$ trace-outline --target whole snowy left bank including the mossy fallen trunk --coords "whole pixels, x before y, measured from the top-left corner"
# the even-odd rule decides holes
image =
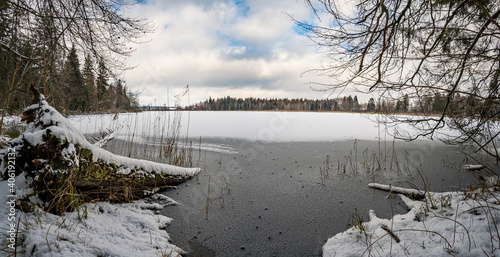
[[[175,201],[163,195],[152,196],[163,204],[129,201],[144,197],[144,190],[151,194],[162,183],[189,179],[199,168],[110,153],[88,142],[42,95],[24,110],[23,119],[28,123],[26,131],[0,150],[1,251],[9,256],[71,257],[178,256],[182,252],[169,243],[164,230],[171,219],[158,214]],[[88,178],[87,173],[102,178]],[[77,187],[82,181],[87,184]],[[84,191],[88,185],[99,193],[89,196]],[[139,191],[132,193],[134,187]],[[119,190],[125,198],[116,197]],[[126,203],[104,202],[107,198]]]

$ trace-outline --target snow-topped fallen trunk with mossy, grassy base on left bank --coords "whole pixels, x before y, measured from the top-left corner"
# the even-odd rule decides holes
[[[7,172],[8,152],[14,149],[15,175],[26,177],[34,190],[31,196],[45,202],[50,212],[69,211],[88,200],[129,201],[144,190],[179,184],[200,172],[118,156],[93,145],[32,90],[35,103],[23,112],[27,129],[0,150],[0,174],[7,179],[12,173]]]

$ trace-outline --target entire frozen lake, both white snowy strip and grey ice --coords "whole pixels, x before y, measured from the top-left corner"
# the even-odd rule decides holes
[[[378,115],[179,114],[71,120],[83,133],[115,130],[111,151],[161,161],[152,157],[155,146],[168,135],[168,124],[180,119],[179,136],[193,138],[193,162],[202,173],[165,192],[180,204],[162,213],[174,219],[167,228],[173,243],[192,250],[191,256],[319,256],[355,212],[368,220],[370,209],[382,218],[407,211],[399,197],[369,189],[370,182],[442,191],[474,180],[460,168],[466,162],[460,149],[430,140],[393,141],[395,127],[375,123]]]

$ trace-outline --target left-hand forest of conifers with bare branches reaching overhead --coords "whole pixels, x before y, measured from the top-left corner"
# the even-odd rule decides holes
[[[66,115],[139,105],[119,56],[131,51],[125,43],[133,33],[145,31],[140,22],[81,1],[1,1],[0,17],[2,117],[30,105],[31,86]]]

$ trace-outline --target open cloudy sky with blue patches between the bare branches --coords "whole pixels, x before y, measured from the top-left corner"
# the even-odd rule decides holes
[[[309,82],[327,78],[305,71],[325,61],[295,26],[314,15],[302,0],[145,0],[127,10],[156,27],[137,45],[125,73],[141,91],[140,104],[172,104],[189,84],[182,104],[212,98],[313,98]]]

